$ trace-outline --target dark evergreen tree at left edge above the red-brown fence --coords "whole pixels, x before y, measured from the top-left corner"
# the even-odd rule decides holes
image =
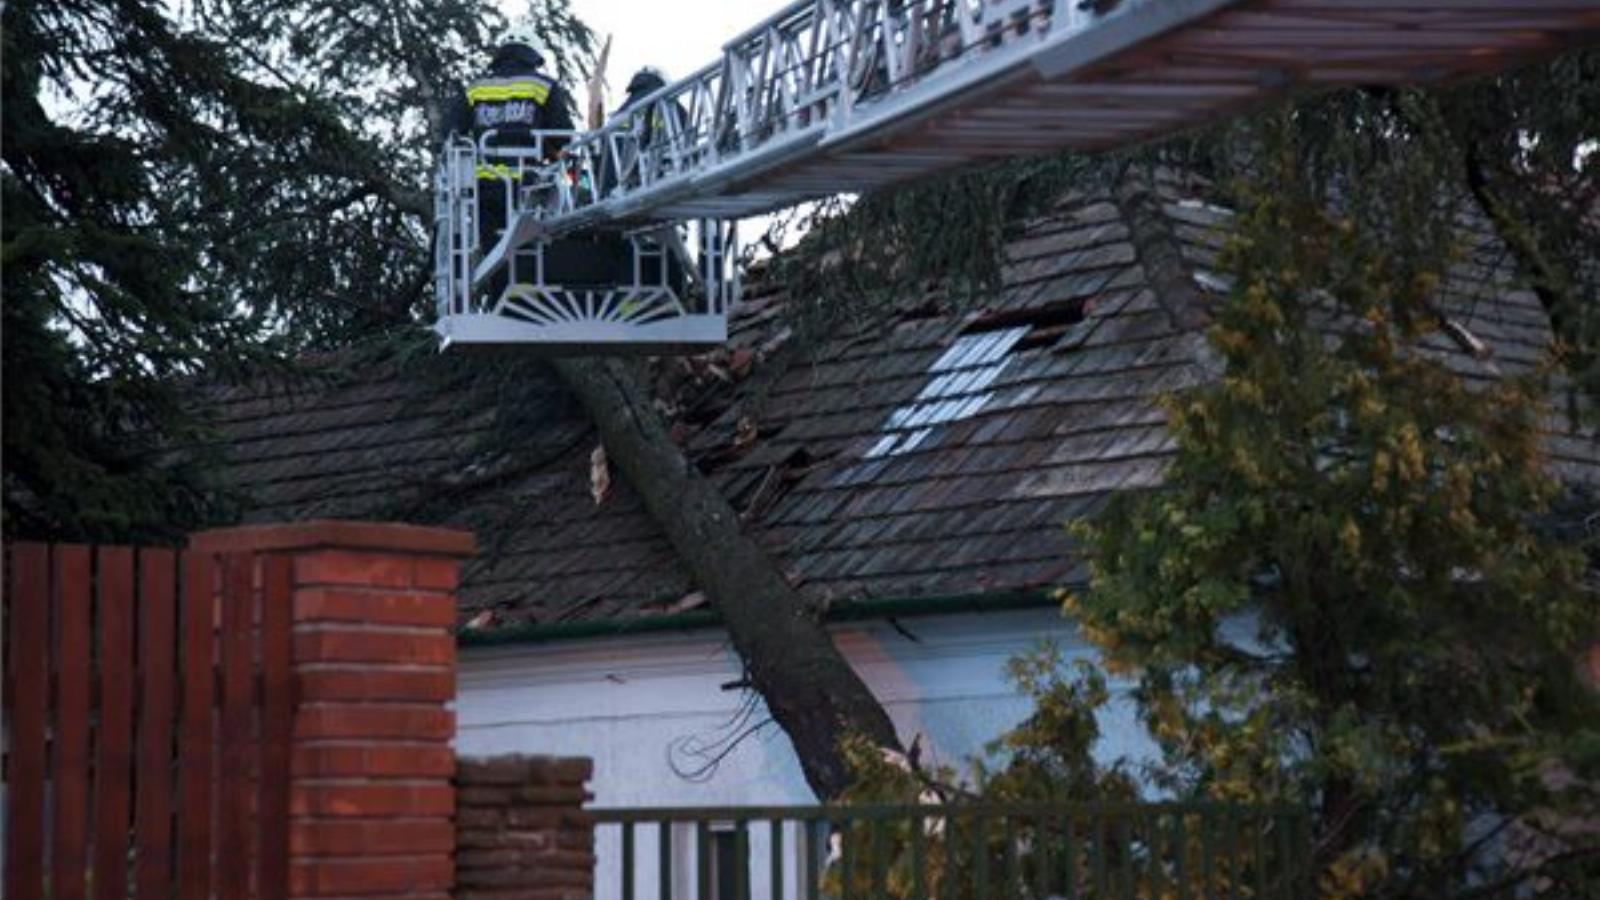
[[[158,163],[210,159],[226,139],[206,110],[248,85],[154,5],[22,2],[3,21],[6,532],[195,525],[211,492],[158,455],[192,436],[174,383],[242,352],[256,325],[197,288],[200,248],[162,215],[176,167]],[[234,125],[248,141],[262,122]]]

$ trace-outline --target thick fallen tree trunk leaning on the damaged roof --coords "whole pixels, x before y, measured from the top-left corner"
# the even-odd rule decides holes
[[[667,436],[638,364],[560,359],[554,367],[600,431],[610,461],[717,605],[752,687],[789,735],[806,783],[819,798],[837,798],[850,785],[842,738],[859,733],[899,746],[883,705],[776,560],[744,533],[722,492]]]

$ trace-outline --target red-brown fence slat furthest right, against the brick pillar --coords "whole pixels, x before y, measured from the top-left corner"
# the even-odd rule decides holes
[[[262,560],[261,599],[261,897],[288,897],[293,562]]]

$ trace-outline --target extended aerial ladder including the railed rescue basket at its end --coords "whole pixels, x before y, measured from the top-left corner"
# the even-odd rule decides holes
[[[741,218],[1597,37],[1600,0],[795,0],[603,127],[536,136],[563,141],[554,160],[488,136],[446,146],[435,330],[446,346],[706,349],[739,298]],[[514,175],[480,181],[482,165]],[[488,189],[507,219],[478,247]]]

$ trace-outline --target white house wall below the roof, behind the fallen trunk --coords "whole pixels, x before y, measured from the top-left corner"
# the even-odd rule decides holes
[[[1005,677],[1010,658],[1046,639],[1069,660],[1090,652],[1053,609],[917,617],[899,626],[845,625],[835,641],[901,738],[922,733],[936,761],[958,767],[1030,708]],[[595,807],[814,802],[776,725],[734,748],[702,781],[674,772],[675,743],[726,733],[744,697],[722,685],[738,677],[738,657],[712,631],[469,649],[461,655],[456,749],[589,756]],[[1146,753],[1130,705],[1114,706],[1101,722],[1102,756]],[[757,709],[755,721],[763,717]],[[763,831],[752,830],[750,842],[760,865]],[[597,895],[613,897],[616,836],[602,833],[597,850]],[[654,858],[653,839],[642,838],[638,852]]]

